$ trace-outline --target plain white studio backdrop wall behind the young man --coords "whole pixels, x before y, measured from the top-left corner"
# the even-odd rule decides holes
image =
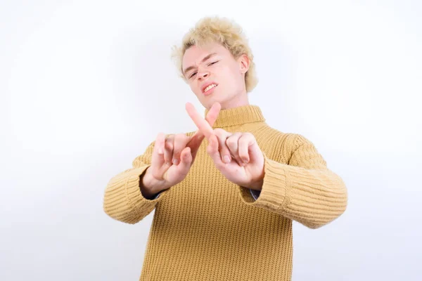
[[[294,223],[293,280],[421,280],[416,0],[1,1],[0,280],[138,280],[153,212],[114,221],[103,191],[158,132],[195,130],[170,50],[206,15],[250,38],[250,103],[347,183],[338,220]]]

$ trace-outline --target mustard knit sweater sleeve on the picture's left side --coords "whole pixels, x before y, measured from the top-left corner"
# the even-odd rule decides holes
[[[142,195],[139,186],[141,176],[151,166],[154,143],[148,145],[143,155],[132,162],[132,169],[113,176],[106,186],[103,209],[111,218],[124,223],[138,223],[153,211],[155,205],[169,192],[162,190],[152,200]]]

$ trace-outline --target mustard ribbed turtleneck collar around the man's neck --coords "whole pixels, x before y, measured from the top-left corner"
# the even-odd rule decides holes
[[[208,111],[208,109],[205,109],[204,116],[207,116]],[[228,126],[264,121],[264,115],[262,115],[260,107],[257,105],[242,105],[226,110],[220,110],[217,120],[212,127],[224,128]]]

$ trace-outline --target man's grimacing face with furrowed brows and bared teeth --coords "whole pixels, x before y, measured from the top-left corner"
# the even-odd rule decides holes
[[[248,104],[245,73],[249,60],[246,55],[235,59],[221,44],[191,46],[182,60],[184,77],[205,108],[219,102],[222,109]]]

